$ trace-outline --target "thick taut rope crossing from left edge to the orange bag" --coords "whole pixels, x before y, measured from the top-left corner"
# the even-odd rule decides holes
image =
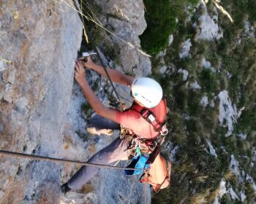
[[[26,159],[34,159],[34,160],[41,160],[45,162],[59,162],[59,163],[72,163],[76,165],[87,165],[97,168],[113,168],[113,169],[119,169],[119,170],[143,170],[146,172],[146,169],[140,169],[140,168],[124,168],[124,167],[118,167],[113,165],[100,165],[100,164],[94,164],[94,163],[88,163],[88,162],[80,162],[75,160],[65,160],[65,159],[58,159],[53,157],[43,157],[38,155],[31,155],[31,154],[24,154],[20,152],[10,152],[5,150],[0,150],[0,155],[10,156],[10,157],[22,157]]]

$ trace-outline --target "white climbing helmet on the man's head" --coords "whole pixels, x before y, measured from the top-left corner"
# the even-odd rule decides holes
[[[154,79],[140,77],[132,82],[132,95],[146,108],[154,108],[162,99],[162,87]]]

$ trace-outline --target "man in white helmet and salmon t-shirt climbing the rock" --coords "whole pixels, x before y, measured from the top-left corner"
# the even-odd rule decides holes
[[[159,83],[154,79],[135,78],[107,68],[113,82],[131,87],[134,103],[130,109],[121,112],[108,108],[99,101],[89,83],[86,82],[84,67],[97,71],[105,77],[107,74],[102,66],[94,63],[90,57],[86,60],[79,59],[75,63],[75,79],[86,100],[97,113],[91,118],[89,132],[110,135],[111,130],[120,130],[121,128],[122,133],[121,137],[116,138],[110,145],[94,154],[88,162],[107,165],[118,160],[129,160],[138,146],[142,152],[148,154],[154,151],[153,141],[166,131],[165,125],[162,124],[167,115],[167,106],[165,100],[162,99],[162,87]],[[142,112],[147,117],[143,117]],[[61,192],[66,193],[70,189],[80,189],[98,170],[99,168],[83,166],[66,184],[61,186]]]

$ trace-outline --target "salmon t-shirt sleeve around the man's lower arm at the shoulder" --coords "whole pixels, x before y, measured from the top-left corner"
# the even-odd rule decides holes
[[[140,113],[132,110],[118,112],[116,115],[116,119],[117,122],[124,127],[133,129],[133,127],[136,127],[140,121]]]

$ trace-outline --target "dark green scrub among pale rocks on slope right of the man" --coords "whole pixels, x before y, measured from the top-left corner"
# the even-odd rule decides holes
[[[183,7],[186,3],[182,1]],[[251,5],[254,9],[249,8]],[[211,12],[211,1],[206,5]],[[238,169],[248,173],[256,180],[255,166],[252,167],[252,149],[256,146],[256,43],[255,38],[249,37],[245,31],[245,20],[255,25],[256,10],[254,1],[223,0],[222,6],[230,12],[235,20],[230,23],[224,15],[219,13],[218,24],[223,29],[223,38],[216,41],[195,40],[195,28],[192,23],[197,22],[197,15],[192,15],[192,22],[187,22],[184,12],[176,15],[178,23],[173,30],[173,43],[165,47],[165,56],[153,55],[152,73],[159,79],[166,95],[172,96],[167,100],[170,109],[168,122],[172,124],[170,140],[174,146],[178,145],[176,162],[173,163],[171,187],[163,189],[152,197],[152,203],[213,203],[219,193],[219,182],[225,178],[226,187],[232,187],[240,196],[244,192],[244,203],[253,203],[255,191],[252,183],[239,181],[239,176],[230,169],[231,154],[238,161]],[[179,58],[181,44],[191,39],[190,58]],[[202,58],[211,62],[216,72],[202,68]],[[165,75],[159,74],[162,61],[167,66]],[[186,81],[178,69],[189,72]],[[171,70],[171,71],[170,71]],[[197,81],[200,89],[192,90],[189,85]],[[241,117],[234,119],[233,134],[225,137],[227,122],[219,125],[219,101],[217,95],[227,90],[230,102],[236,104]],[[203,96],[214,104],[200,105]],[[245,134],[241,138],[239,134]],[[211,155],[206,139],[217,153]],[[223,195],[221,203],[241,203],[233,200],[228,194]]]

